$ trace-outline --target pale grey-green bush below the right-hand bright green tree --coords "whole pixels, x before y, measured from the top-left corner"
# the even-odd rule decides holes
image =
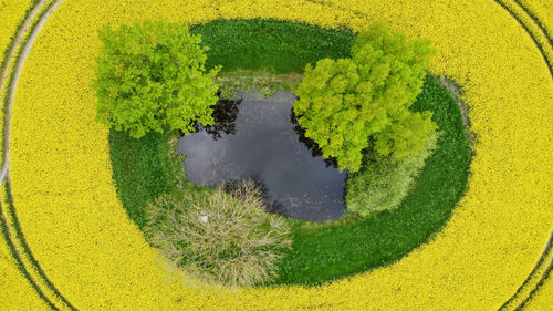
[[[415,156],[396,159],[377,153],[367,154],[359,172],[351,174],[346,185],[346,206],[362,216],[399,206],[436,148],[438,134],[432,132],[426,146]]]

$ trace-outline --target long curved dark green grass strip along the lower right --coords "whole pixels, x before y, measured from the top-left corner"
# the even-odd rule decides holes
[[[315,284],[394,262],[446,224],[469,175],[462,116],[447,90],[430,76],[413,110],[431,111],[440,137],[411,191],[397,209],[373,217],[319,230],[296,224],[293,250],[282,261],[278,283]]]

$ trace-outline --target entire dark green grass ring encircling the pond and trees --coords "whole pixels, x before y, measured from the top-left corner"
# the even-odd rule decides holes
[[[344,32],[275,21],[215,21],[192,31],[211,46],[208,63],[222,64],[223,75],[239,69],[298,73],[320,58],[348,56],[354,42]],[[431,76],[426,77],[411,108],[431,111],[440,131],[438,148],[426,160],[413,190],[397,209],[368,218],[348,215],[324,224],[286,219],[293,226],[293,246],[279,266],[275,283],[316,284],[390,263],[428,241],[446,224],[469,174],[462,116],[448,91]],[[175,136],[152,134],[135,141],[124,133],[109,135],[117,191],[140,228],[147,203],[170,190],[171,174],[182,174],[168,156],[171,138]],[[184,178],[181,188],[201,189]]]

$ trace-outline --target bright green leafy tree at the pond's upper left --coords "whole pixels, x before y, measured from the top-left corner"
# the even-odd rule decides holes
[[[148,132],[192,132],[197,121],[212,124],[217,103],[213,79],[206,72],[207,48],[188,28],[166,21],[144,21],[100,31],[96,59],[97,120],[135,138]]]

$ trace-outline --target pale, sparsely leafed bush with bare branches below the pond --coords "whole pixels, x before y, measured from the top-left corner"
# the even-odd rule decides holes
[[[148,207],[146,234],[178,267],[206,281],[253,286],[272,280],[291,247],[290,228],[265,212],[253,182],[192,198],[163,195]]]

